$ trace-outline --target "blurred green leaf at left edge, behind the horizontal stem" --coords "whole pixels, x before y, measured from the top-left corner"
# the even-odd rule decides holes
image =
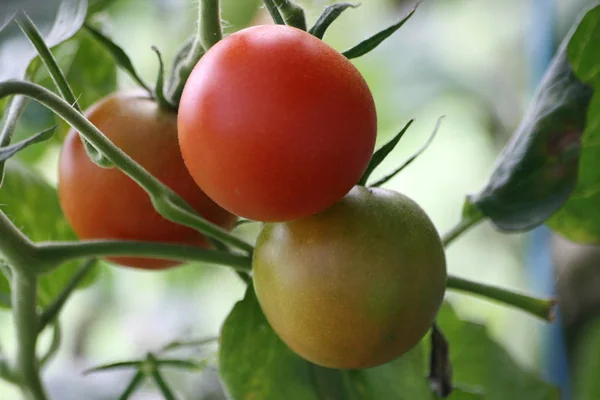
[[[73,240],[75,235],[62,216],[56,189],[23,165],[9,160],[0,208],[33,241]],[[38,300],[45,306],[63,290],[77,273],[79,262],[71,262],[40,278]],[[95,278],[90,274],[84,281]],[[0,276],[0,294],[9,293],[8,282]]]

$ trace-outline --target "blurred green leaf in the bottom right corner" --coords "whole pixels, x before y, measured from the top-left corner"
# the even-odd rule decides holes
[[[578,336],[573,358],[577,400],[600,399],[600,318],[588,322]]]

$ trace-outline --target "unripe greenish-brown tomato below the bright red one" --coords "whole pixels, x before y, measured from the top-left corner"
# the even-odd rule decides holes
[[[364,187],[323,213],[266,224],[253,274],[283,342],[341,369],[381,365],[416,345],[446,287],[443,246],[425,212],[399,193]]]

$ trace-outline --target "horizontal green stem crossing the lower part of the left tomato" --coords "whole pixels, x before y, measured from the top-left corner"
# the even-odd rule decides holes
[[[116,240],[39,243],[38,254],[42,259],[48,260],[50,265],[89,257],[146,257],[221,264],[248,272],[251,262],[248,256],[197,246]]]

